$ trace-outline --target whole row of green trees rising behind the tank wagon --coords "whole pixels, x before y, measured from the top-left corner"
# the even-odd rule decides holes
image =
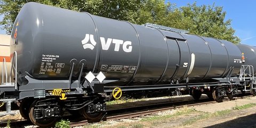
[[[0,0],[0,25],[11,33],[15,17],[27,2],[38,2],[64,9],[89,12],[101,17],[126,20],[136,24],[147,22],[158,25],[185,29],[190,34],[225,39],[239,43],[231,20],[225,21],[226,12],[222,7],[213,5],[197,6],[196,3],[177,7],[164,0]]]

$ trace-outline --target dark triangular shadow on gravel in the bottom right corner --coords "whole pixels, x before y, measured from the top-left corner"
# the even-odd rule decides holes
[[[220,124],[215,124],[212,126],[207,126],[207,128],[213,128],[213,127],[256,127],[256,114],[244,116],[244,117],[239,117],[237,119],[233,119],[231,121],[225,122],[225,123],[220,123]]]

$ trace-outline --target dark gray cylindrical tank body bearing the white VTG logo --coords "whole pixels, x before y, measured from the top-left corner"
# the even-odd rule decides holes
[[[22,7],[12,31],[20,85],[27,73],[40,80],[68,79],[73,63],[74,80],[84,63],[83,76],[102,71],[120,85],[202,81],[226,77],[230,67],[235,76],[242,65],[234,61],[241,59],[240,50],[227,41],[37,3]]]

